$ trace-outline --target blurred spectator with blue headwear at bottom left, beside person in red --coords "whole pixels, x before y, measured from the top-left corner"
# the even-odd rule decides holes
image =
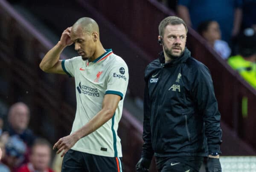
[[[6,156],[3,159],[3,163],[6,164],[12,172],[16,172],[25,158],[26,145],[17,136],[11,136],[6,143]]]

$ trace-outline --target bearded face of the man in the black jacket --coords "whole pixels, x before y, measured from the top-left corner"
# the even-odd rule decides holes
[[[183,24],[167,25],[163,32],[162,45],[168,57],[180,57],[185,51],[186,28]],[[160,38],[160,36],[159,36]]]

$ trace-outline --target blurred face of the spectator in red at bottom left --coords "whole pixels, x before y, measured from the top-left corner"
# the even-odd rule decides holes
[[[51,149],[47,145],[36,145],[32,149],[30,162],[35,170],[43,171],[48,168],[51,159]]]

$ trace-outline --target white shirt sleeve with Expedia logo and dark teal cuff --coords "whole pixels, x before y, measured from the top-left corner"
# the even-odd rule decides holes
[[[129,80],[128,67],[125,62],[114,64],[108,72],[105,94],[119,95],[121,100],[126,93]]]

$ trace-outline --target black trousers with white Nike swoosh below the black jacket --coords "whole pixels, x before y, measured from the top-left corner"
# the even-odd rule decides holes
[[[155,157],[158,172],[199,172],[204,157]]]

